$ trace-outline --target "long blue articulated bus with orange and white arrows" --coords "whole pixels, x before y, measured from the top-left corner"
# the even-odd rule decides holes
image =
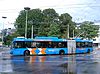
[[[92,41],[82,39],[59,39],[58,37],[14,38],[12,55],[76,54],[93,51]]]

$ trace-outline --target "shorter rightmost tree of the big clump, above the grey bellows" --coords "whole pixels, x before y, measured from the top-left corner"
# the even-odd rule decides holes
[[[59,16],[61,33],[63,33],[63,37],[67,38],[68,35],[68,26],[69,26],[69,36],[73,36],[73,30],[75,29],[76,23],[72,21],[72,17],[68,13],[61,14]]]

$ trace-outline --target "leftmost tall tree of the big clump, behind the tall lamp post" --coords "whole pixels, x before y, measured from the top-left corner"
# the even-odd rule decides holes
[[[32,21],[32,23],[30,23]],[[35,29],[40,27],[40,22],[43,21],[43,14],[40,9],[32,9],[28,11],[28,37],[31,37],[31,27],[34,25],[34,32],[35,34],[38,34]],[[17,29],[17,32],[21,35],[24,36],[25,34],[25,11],[21,11],[18,18],[16,19],[16,24],[15,27]]]

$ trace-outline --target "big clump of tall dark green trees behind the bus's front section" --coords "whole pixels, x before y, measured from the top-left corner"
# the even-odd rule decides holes
[[[15,22],[17,33],[20,36],[24,36],[25,33],[25,14],[25,11],[22,10]],[[36,36],[54,36],[55,34],[55,36],[66,38],[67,26],[69,25],[70,36],[72,36],[72,30],[74,29],[75,23],[68,13],[59,16],[54,9],[45,9],[43,11],[40,9],[32,9],[28,11],[28,38],[31,37],[32,25],[34,35]]]

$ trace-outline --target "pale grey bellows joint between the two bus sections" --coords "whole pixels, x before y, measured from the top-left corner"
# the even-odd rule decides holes
[[[68,54],[73,54],[76,51],[76,42],[75,40],[68,40]]]

